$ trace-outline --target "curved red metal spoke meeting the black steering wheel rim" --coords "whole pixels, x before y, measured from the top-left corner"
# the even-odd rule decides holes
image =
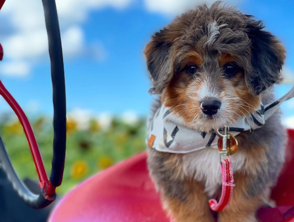
[[[0,94],[3,96],[3,98],[6,100],[6,102],[10,105],[10,107],[13,109],[15,114],[17,115],[22,128],[26,134],[26,138],[29,142],[29,147],[32,152],[32,156],[35,162],[35,166],[38,172],[39,180],[40,180],[40,187],[44,189],[46,194],[48,196],[53,196],[55,193],[55,186],[53,186],[50,181],[47,178],[46,171],[43,165],[43,161],[41,158],[41,154],[38,148],[38,144],[36,141],[36,138],[34,136],[32,127],[29,123],[28,118],[26,117],[26,114],[22,111],[18,103],[15,101],[15,99],[11,96],[11,94],[7,91],[7,89],[4,87],[2,82],[0,81]]]

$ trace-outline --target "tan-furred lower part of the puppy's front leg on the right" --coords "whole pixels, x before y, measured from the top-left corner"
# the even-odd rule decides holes
[[[218,214],[219,222],[257,222],[256,211],[262,205],[262,200],[267,198],[268,189],[258,194],[249,193],[252,177],[240,173],[234,175],[235,187],[232,200],[224,211]]]

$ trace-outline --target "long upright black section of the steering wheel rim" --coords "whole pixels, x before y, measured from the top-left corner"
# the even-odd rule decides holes
[[[50,182],[58,187],[62,181],[66,146],[66,99],[60,30],[54,0],[42,0],[48,34],[53,89],[53,158]]]

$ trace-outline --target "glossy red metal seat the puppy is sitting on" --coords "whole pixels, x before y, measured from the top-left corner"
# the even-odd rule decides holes
[[[261,208],[258,217],[262,222],[292,222],[294,216],[294,130],[289,130],[289,135],[289,158],[272,192],[278,207]],[[149,177],[146,153],[119,163],[70,191],[49,217],[49,222],[60,221],[169,222]]]

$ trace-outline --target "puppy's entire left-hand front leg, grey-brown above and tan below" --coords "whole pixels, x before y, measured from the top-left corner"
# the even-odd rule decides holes
[[[147,151],[150,175],[169,216],[175,222],[213,221],[202,183],[184,174],[182,154]]]

